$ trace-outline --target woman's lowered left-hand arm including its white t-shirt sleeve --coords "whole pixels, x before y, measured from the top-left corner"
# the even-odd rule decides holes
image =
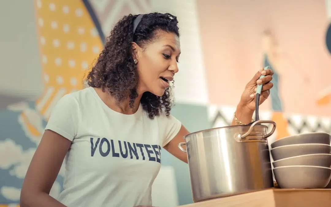
[[[52,110],[45,132],[26,172],[21,207],[65,207],[49,195],[63,160],[78,131],[79,105],[72,95],[63,96]]]

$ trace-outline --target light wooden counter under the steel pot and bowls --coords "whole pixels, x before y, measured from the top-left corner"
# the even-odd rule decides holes
[[[270,188],[181,207],[331,207],[331,189]]]

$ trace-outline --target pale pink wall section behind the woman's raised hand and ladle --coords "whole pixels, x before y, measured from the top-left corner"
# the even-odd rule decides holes
[[[204,0],[197,4],[212,104],[237,104],[245,84],[262,66],[261,34],[270,29],[281,50],[277,70],[285,112],[331,115],[331,104],[316,104],[318,93],[331,85],[324,0]],[[261,109],[270,109],[270,103]]]

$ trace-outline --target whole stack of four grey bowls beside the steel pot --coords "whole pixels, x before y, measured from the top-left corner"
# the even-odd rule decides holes
[[[325,188],[331,179],[331,136],[313,132],[271,144],[273,174],[281,188]]]

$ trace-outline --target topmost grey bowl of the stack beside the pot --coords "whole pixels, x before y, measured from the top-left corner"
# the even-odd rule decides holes
[[[290,144],[330,144],[331,136],[324,132],[311,132],[287,136],[270,144],[271,148]]]

